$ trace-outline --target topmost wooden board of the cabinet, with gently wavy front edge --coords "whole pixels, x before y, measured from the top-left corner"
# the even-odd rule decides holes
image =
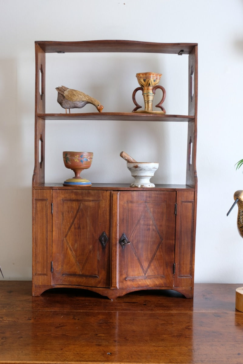
[[[190,54],[197,43],[154,43],[134,40],[35,41],[46,53],[141,52]]]

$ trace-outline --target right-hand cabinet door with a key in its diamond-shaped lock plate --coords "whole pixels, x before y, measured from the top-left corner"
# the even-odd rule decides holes
[[[176,192],[119,193],[118,288],[172,287]]]

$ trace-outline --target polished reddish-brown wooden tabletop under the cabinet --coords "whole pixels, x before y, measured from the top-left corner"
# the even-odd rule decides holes
[[[139,291],[109,300],[0,281],[0,363],[243,363],[242,284],[195,284],[194,299]]]

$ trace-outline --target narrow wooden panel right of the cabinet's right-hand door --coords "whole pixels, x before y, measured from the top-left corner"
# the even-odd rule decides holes
[[[193,216],[194,193],[177,192],[175,287],[193,285],[195,246]]]

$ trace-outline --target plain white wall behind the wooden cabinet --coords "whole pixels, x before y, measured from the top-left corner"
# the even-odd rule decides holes
[[[6,280],[31,279],[34,41],[127,39],[199,43],[195,282],[243,281],[243,240],[236,228],[237,208],[226,218],[235,190],[243,187],[242,172],[234,169],[234,164],[243,158],[240,138],[242,19],[242,0],[0,0],[0,266]],[[74,63],[69,62],[68,55],[64,56],[63,68],[55,72],[47,69],[47,111],[62,112],[56,103],[55,91],[60,84],[91,94],[102,102],[104,111],[130,111],[132,91],[138,86],[136,72],[150,71],[149,68],[154,67],[154,71],[163,74],[160,84],[167,92],[167,113],[187,113],[184,110],[186,92],[181,91],[184,79],[179,82],[170,68],[177,62],[177,56],[173,60],[161,60],[159,56],[154,59],[129,57],[111,57],[109,68],[103,56],[91,61],[77,60],[75,67],[80,64],[80,70],[76,68],[78,77],[75,77],[72,74]],[[99,78],[99,67],[110,70],[110,93],[107,80]],[[95,77],[90,76],[90,70]],[[91,110],[88,109],[91,106],[86,107],[86,111]],[[51,138],[47,138],[47,155],[54,155],[57,164],[47,163],[47,180],[62,182],[71,177],[62,164],[61,152],[81,146],[83,150],[97,151],[96,160],[94,157],[92,167],[86,171],[86,177],[93,182],[131,180],[125,162],[119,157],[121,150],[134,158],[159,159],[155,182],[160,179],[175,182],[176,179],[180,183],[184,178],[184,156],[180,151],[184,146],[184,126],[180,126],[178,134],[174,126],[170,129],[161,123],[140,126],[130,122],[125,125],[107,122],[101,127],[98,122],[74,122],[72,131],[75,132],[69,134],[70,127],[65,124],[60,123],[56,131],[56,124],[48,123]],[[142,132],[142,147],[128,129],[132,135],[138,129]],[[90,134],[92,138],[87,138]],[[100,134],[107,142],[103,159],[99,149],[101,142],[97,140]],[[82,135],[82,143],[77,135]],[[172,166],[178,173],[173,172]]]

